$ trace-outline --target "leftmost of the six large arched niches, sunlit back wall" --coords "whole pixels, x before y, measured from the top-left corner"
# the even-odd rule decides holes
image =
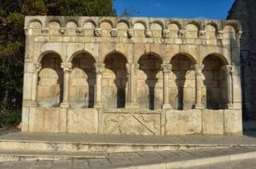
[[[59,106],[63,100],[63,69],[59,54],[48,52],[40,60],[41,70],[38,78],[37,101],[42,107]]]

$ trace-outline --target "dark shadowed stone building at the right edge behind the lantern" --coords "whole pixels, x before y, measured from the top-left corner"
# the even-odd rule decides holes
[[[243,82],[244,119],[256,120],[256,1],[236,0],[228,19],[241,22],[241,72]]]

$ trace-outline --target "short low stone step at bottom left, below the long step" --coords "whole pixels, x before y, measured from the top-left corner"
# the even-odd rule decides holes
[[[85,152],[56,152],[56,151],[27,151],[27,150],[1,150],[0,162],[8,161],[39,161],[39,160],[73,160],[73,159],[101,159],[106,158],[107,153]]]

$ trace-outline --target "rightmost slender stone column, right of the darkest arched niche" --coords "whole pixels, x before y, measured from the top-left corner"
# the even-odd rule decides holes
[[[226,82],[227,82],[227,92],[228,92],[228,103],[227,108],[231,109],[234,107],[234,101],[233,101],[233,66],[232,65],[226,65],[224,67],[225,73],[226,73]]]

